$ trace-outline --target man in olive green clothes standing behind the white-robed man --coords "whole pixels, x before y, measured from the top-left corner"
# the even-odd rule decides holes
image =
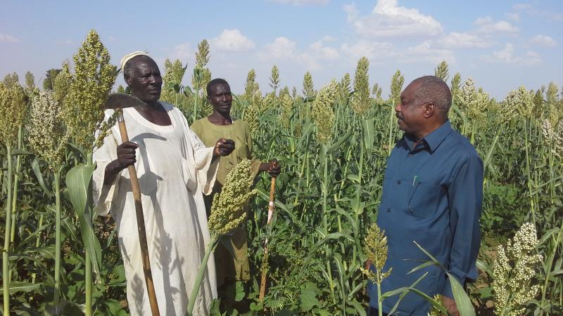
[[[199,136],[203,144],[215,145],[217,136],[234,140],[235,149],[229,156],[220,157],[217,178],[213,193],[204,196],[205,206],[210,211],[215,193],[221,192],[224,179],[241,159],[251,159],[251,173],[257,175],[267,171],[271,176],[279,175],[280,168],[276,161],[262,163],[252,157],[252,137],[245,121],[231,118],[232,94],[229,84],[224,79],[213,79],[207,85],[208,101],[213,105],[213,114],[198,119],[191,124],[191,130]],[[245,227],[239,227],[230,235],[222,237],[215,249],[215,267],[217,270],[217,289],[219,297],[224,297],[221,288],[229,287],[236,280],[250,278],[247,251],[248,234]]]

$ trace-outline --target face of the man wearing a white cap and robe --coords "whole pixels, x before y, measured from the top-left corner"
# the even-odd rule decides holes
[[[156,62],[151,58],[140,58],[131,60],[134,62],[130,77],[125,77],[125,81],[133,96],[145,101],[154,102],[160,98],[160,91],[163,85],[163,77]]]

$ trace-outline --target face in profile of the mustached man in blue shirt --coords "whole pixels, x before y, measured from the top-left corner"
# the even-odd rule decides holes
[[[419,131],[424,129],[424,104],[415,98],[415,91],[420,84],[411,83],[400,94],[400,100],[395,105],[395,115],[399,129],[407,134],[417,135]]]

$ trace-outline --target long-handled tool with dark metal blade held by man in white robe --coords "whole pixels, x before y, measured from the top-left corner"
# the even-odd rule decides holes
[[[135,107],[137,105],[144,105],[144,102],[134,96],[129,96],[124,93],[112,93],[106,102],[106,108],[115,109],[115,112],[118,112],[118,126],[122,143],[129,141],[122,109],[124,107]],[[129,171],[129,178],[131,179],[133,199],[135,202],[135,213],[137,213],[137,232],[139,232],[139,246],[141,246],[141,260],[143,262],[143,272],[145,276],[146,291],[148,292],[148,302],[151,303],[152,315],[160,316],[160,312],[158,311],[158,302],[156,301],[156,292],[154,290],[153,275],[151,272],[151,259],[148,256],[145,217],[143,214],[143,205],[141,204],[139,178],[137,178],[137,170],[134,165],[128,166],[127,171]]]

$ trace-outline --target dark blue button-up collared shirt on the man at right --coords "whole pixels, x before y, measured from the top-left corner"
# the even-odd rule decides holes
[[[451,275],[464,284],[477,277],[476,257],[481,242],[479,216],[483,199],[483,163],[467,138],[446,121],[418,143],[403,136],[387,160],[377,224],[388,240],[384,270],[393,268],[381,284],[381,293],[408,287],[425,272],[417,289],[429,296],[453,298],[445,272],[436,266],[407,274],[429,258],[429,251]],[[377,308],[377,291],[368,285],[369,305]],[[389,312],[398,300],[383,301]],[[429,303],[410,293],[398,315],[424,315]]]

